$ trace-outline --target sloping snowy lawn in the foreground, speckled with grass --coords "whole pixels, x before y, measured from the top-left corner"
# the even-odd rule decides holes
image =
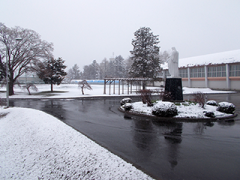
[[[0,179],[151,179],[60,120],[0,109]]]

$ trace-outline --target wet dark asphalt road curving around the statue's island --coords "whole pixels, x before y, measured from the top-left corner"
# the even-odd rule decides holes
[[[208,95],[208,99],[232,102],[240,114],[240,94]],[[240,121],[164,124],[128,119],[117,110],[120,100],[15,99],[10,105],[52,114],[157,179],[239,179]],[[181,138],[164,138],[163,133],[175,130]]]

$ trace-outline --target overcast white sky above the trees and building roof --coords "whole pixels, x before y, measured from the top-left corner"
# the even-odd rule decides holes
[[[239,9],[240,0],[1,0],[0,22],[36,31],[55,58],[82,69],[113,53],[129,57],[140,27],[180,58],[240,49]]]

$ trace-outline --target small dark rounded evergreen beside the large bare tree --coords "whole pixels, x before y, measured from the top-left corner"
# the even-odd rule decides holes
[[[64,71],[66,68],[63,65],[64,61],[61,58],[55,60],[51,58],[45,62],[38,63],[37,75],[42,79],[45,84],[51,84],[51,92],[53,92],[53,84],[60,85],[67,73]]]

